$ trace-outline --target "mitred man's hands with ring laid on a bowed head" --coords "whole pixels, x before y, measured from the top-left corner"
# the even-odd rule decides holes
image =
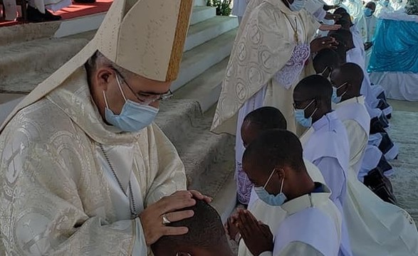
[[[194,206],[196,204],[194,198],[207,203],[212,201],[211,198],[198,191],[177,191],[171,196],[161,198],[160,201],[148,206],[140,213],[138,217],[141,220],[145,242],[148,246],[157,242],[163,235],[184,235],[189,232],[186,227],[170,227],[164,222],[176,222],[191,218],[194,215],[193,210],[180,209]]]

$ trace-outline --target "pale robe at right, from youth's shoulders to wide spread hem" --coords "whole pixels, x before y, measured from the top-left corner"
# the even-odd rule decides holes
[[[364,106],[364,97],[345,100],[338,103],[336,108],[352,107],[356,104]],[[352,107],[353,111],[360,109]],[[356,114],[368,116],[365,107],[362,113]],[[418,233],[411,216],[402,208],[382,201],[357,178],[367,146],[367,132],[354,119],[340,119],[347,128],[350,142],[350,169],[343,207],[353,255],[418,255]]]

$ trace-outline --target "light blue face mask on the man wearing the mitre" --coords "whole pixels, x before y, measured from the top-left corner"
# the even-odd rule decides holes
[[[110,110],[108,100],[106,99],[105,91],[103,97],[105,98],[105,118],[109,124],[121,129],[123,132],[139,132],[154,121],[157,116],[158,109],[148,105],[141,105],[132,100],[127,100],[125,94],[120,86],[120,81],[116,75],[117,86],[122,93],[125,104],[122,107],[120,114],[114,114]]]

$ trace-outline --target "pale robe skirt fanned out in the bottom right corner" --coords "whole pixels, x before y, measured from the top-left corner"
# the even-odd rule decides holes
[[[407,211],[382,201],[352,171],[347,190],[344,215],[353,255],[418,255],[417,227]]]

